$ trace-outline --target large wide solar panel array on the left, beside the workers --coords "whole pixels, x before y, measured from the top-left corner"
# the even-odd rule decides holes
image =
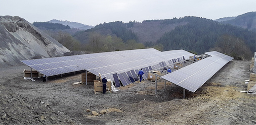
[[[193,56],[193,54],[185,50],[161,52],[148,48],[21,61],[31,69],[37,70],[47,77],[77,71],[88,71],[96,76],[100,73],[102,76],[104,75],[115,81],[115,83],[121,82],[122,85],[128,85],[133,82],[131,77],[135,81],[138,80],[137,71],[139,69],[143,69],[147,73],[150,71],[149,69],[161,68],[172,60],[188,58],[189,56]],[[172,63],[174,62],[172,61]],[[147,76],[143,76],[143,78],[147,79]],[[118,84],[118,86],[121,84]]]

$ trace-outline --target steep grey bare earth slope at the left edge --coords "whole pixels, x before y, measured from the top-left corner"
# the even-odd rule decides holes
[[[0,64],[15,66],[34,57],[62,56],[69,50],[20,17],[0,16]]]

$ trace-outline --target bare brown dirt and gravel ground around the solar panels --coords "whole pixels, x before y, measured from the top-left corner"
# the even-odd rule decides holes
[[[255,124],[256,94],[247,90],[249,61],[232,60],[195,93],[164,80],[94,94],[93,84],[77,84],[80,74],[23,79],[27,66],[1,68],[0,124]],[[90,112],[86,110],[90,109]],[[92,111],[105,114],[92,115]]]

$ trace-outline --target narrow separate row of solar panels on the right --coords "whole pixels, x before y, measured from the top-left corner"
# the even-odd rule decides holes
[[[195,92],[209,78],[225,66],[233,57],[217,51],[206,52],[211,57],[204,58],[181,68],[175,72],[162,76],[161,78],[179,85],[189,91]]]

